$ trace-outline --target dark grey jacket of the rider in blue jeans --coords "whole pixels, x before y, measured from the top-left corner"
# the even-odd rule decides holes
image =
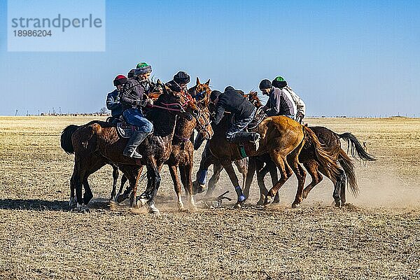
[[[130,108],[137,108],[137,100],[143,100],[151,90],[148,80],[140,81],[134,77],[127,80],[123,90],[120,92],[120,102],[123,104],[124,111]]]

